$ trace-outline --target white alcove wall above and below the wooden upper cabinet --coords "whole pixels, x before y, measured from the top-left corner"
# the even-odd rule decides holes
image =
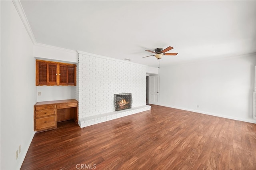
[[[57,61],[73,64],[78,63],[78,53],[76,51],[39,43],[36,43],[36,45],[34,45],[34,56],[36,59],[42,59],[47,61]],[[38,92],[41,92],[40,96],[38,96]],[[74,99],[75,87],[36,86],[36,96],[37,101]]]

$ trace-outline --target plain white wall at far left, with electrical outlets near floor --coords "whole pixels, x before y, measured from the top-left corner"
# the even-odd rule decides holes
[[[20,169],[34,136],[33,43],[12,1],[1,1],[1,168]],[[21,153],[15,154],[21,145]]]

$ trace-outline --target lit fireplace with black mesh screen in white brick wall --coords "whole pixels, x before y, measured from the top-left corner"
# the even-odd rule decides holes
[[[121,93],[114,95],[115,111],[132,108],[132,93]]]

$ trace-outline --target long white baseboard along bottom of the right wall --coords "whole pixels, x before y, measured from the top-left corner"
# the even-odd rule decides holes
[[[174,109],[191,111],[191,112],[201,113],[201,114],[205,114],[205,115],[212,115],[212,116],[216,116],[216,117],[222,117],[222,118],[226,118],[226,119],[232,119],[232,120],[236,120],[236,121],[243,121],[243,122],[255,123],[256,124],[256,120],[254,120],[254,119],[245,119],[245,118],[240,118],[240,117],[221,115],[221,114],[218,114],[218,113],[210,113],[210,112],[198,111],[198,110],[194,110],[194,109],[187,109],[187,108],[183,108],[183,107],[174,107],[174,106],[170,106],[170,105],[160,105],[160,106],[171,107],[171,108],[174,108]]]

